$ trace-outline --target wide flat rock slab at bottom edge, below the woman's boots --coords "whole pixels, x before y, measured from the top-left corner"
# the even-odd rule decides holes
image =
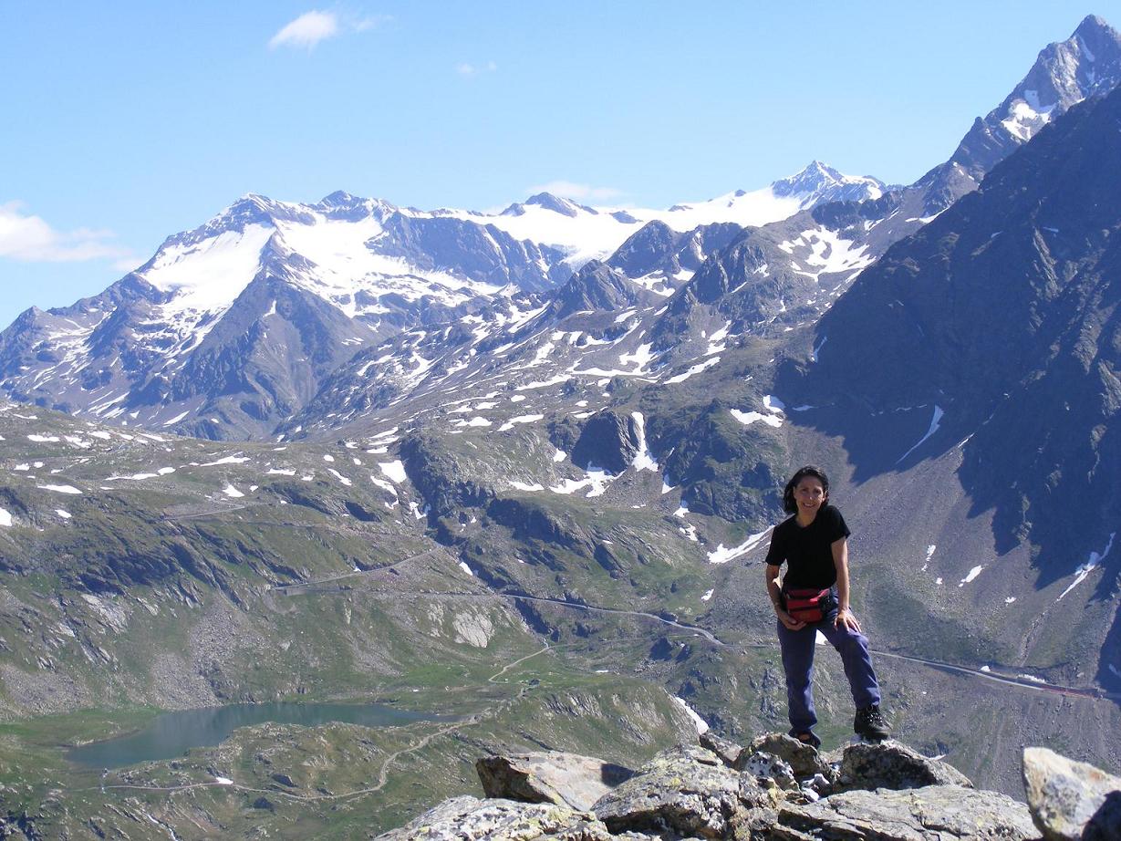
[[[772,841],[1028,841],[1039,834],[1028,807],[998,792],[926,786],[855,791],[787,804]]]

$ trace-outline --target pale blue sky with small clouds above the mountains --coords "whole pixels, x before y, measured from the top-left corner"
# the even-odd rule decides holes
[[[1091,12],[1121,26],[1121,0],[0,0],[0,326],[250,192],[668,206],[814,158],[909,183]]]

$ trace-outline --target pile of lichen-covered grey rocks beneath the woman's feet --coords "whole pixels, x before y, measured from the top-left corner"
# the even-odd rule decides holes
[[[978,791],[896,741],[819,754],[770,733],[711,734],[631,770],[537,752],[476,764],[488,797],[445,801],[377,841],[1118,841],[1121,777],[1023,751],[1028,803]]]

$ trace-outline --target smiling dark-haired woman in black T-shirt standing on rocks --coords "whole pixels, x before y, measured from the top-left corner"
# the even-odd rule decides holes
[[[828,499],[830,480],[821,469],[797,471],[782,491],[782,507],[794,516],[775,527],[767,553],[767,593],[778,616],[790,736],[815,748],[822,743],[814,734],[817,715],[810,684],[817,631],[844,662],[856,704],[853,729],[876,741],[890,733],[880,713],[868,638],[849,606],[849,527]],[[787,571],[779,582],[784,562]]]

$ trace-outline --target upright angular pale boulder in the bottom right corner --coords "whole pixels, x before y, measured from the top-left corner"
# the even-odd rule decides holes
[[[1025,748],[1023,786],[1048,841],[1121,839],[1121,777],[1047,748]]]

